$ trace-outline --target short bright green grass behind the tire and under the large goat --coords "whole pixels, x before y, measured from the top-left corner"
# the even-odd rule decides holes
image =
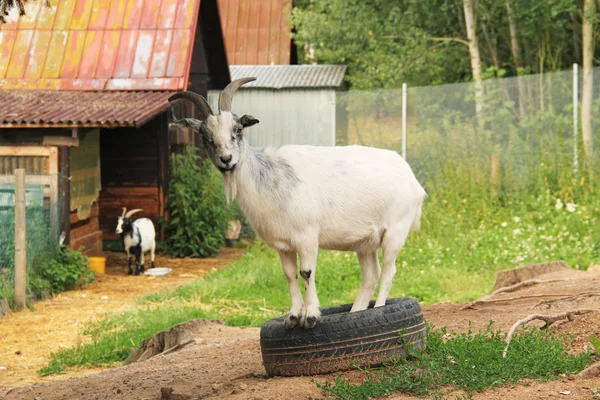
[[[411,235],[398,259],[391,297],[416,297],[423,304],[468,301],[488,293],[500,269],[556,259],[585,269],[599,260],[593,245],[600,243],[596,204],[580,204],[573,212],[566,206],[557,209],[552,199],[510,209],[478,207],[483,215],[479,221],[461,218],[475,213],[468,207],[468,202],[458,208],[444,199],[429,199],[422,233]],[[354,254],[321,252],[316,274],[323,307],[354,300],[360,286]],[[289,292],[277,253],[258,241],[230,267],[138,303],[137,311],[90,325],[84,332],[89,343],[53,353],[40,373],[122,361],[143,339],[195,318],[257,327],[285,313]]]

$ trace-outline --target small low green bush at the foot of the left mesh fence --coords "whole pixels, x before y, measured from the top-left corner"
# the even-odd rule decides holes
[[[48,282],[51,293],[60,293],[92,282],[94,273],[87,264],[86,256],[63,247],[55,258],[43,264],[39,275]]]

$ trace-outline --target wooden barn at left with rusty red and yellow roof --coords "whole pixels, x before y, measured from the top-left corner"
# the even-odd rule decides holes
[[[167,99],[230,82],[217,0],[44,3],[0,25],[0,175],[55,177],[67,243],[98,254],[121,207],[165,215],[169,156],[190,136]]]

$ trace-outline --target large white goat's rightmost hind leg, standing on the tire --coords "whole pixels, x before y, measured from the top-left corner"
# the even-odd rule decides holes
[[[411,220],[412,222],[412,220]],[[410,231],[410,223],[399,223],[396,229],[388,230],[383,239],[383,265],[381,266],[381,280],[379,281],[379,293],[375,301],[375,307],[385,305],[394,276],[396,275],[396,257],[404,246],[408,232]]]

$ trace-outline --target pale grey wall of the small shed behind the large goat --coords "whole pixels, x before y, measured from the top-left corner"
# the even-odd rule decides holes
[[[219,93],[208,92],[208,101],[215,112]],[[247,133],[253,146],[335,146],[335,103],[333,89],[240,89],[233,98],[232,111],[260,120]]]

